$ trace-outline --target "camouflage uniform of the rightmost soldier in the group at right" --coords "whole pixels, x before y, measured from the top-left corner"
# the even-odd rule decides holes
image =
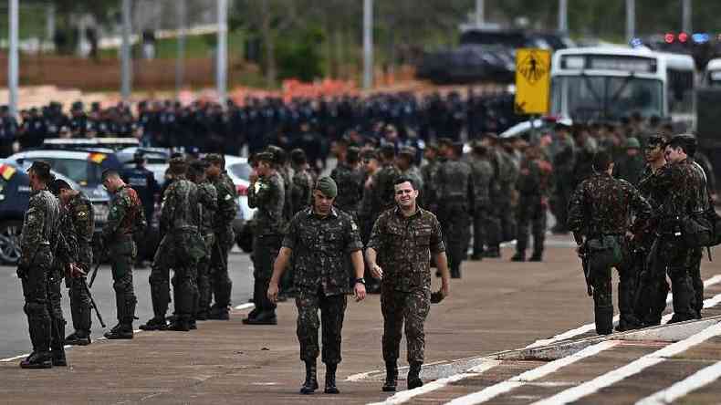
[[[698,251],[688,248],[679,237],[679,218],[702,213],[708,206],[702,171],[688,159],[669,163],[654,178],[653,188],[663,196],[658,209],[660,237],[654,242],[651,254],[651,272],[663,275],[664,269],[671,278],[674,292],[674,317],[672,322],[695,318],[695,293],[692,274]],[[665,193],[662,194],[662,191]]]

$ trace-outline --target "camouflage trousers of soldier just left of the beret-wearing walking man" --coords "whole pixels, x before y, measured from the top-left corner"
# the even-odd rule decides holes
[[[277,234],[257,235],[253,244],[253,303],[257,313],[275,311],[276,304],[267,299],[268,283],[273,275],[273,263],[276,261],[283,238]]]

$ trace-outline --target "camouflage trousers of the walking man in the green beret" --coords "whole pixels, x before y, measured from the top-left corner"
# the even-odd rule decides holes
[[[340,340],[346,305],[347,299],[344,294],[326,296],[320,291],[317,294],[298,293],[296,297],[298,328],[296,331],[302,361],[315,361],[318,358],[318,328],[322,326],[323,363],[340,363]],[[318,310],[320,310],[320,322]]]

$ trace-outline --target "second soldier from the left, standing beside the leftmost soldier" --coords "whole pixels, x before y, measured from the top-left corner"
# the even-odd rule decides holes
[[[93,263],[92,236],[95,232],[95,214],[92,203],[85,193],[73,190],[63,180],[56,180],[50,184],[50,191],[57,195],[64,211],[68,214],[70,226],[68,234],[77,243],[77,265],[86,274]],[[68,240],[68,235],[66,235]],[[66,277],[66,286],[69,288],[70,313],[73,318],[75,331],[65,338],[68,345],[86,346],[90,344],[90,298],[85,275]]]

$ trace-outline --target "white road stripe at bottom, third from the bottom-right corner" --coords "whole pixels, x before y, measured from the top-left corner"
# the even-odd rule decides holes
[[[518,374],[516,377],[513,377],[511,379],[499,382],[472,394],[465,395],[464,397],[456,398],[455,400],[448,402],[448,405],[472,405],[477,403],[483,403],[487,400],[493,400],[498,395],[504,394],[511,389],[522,387],[526,385],[529,381],[545,377],[583,358],[595,356],[601,353],[601,351],[603,350],[617,346],[619,343],[620,341],[618,340],[606,340],[601,343],[597,343],[593,346],[580,350],[578,353],[574,353],[565,358],[553,360],[547,364],[544,364],[543,366],[537,367],[536,369],[530,369],[524,373]]]

